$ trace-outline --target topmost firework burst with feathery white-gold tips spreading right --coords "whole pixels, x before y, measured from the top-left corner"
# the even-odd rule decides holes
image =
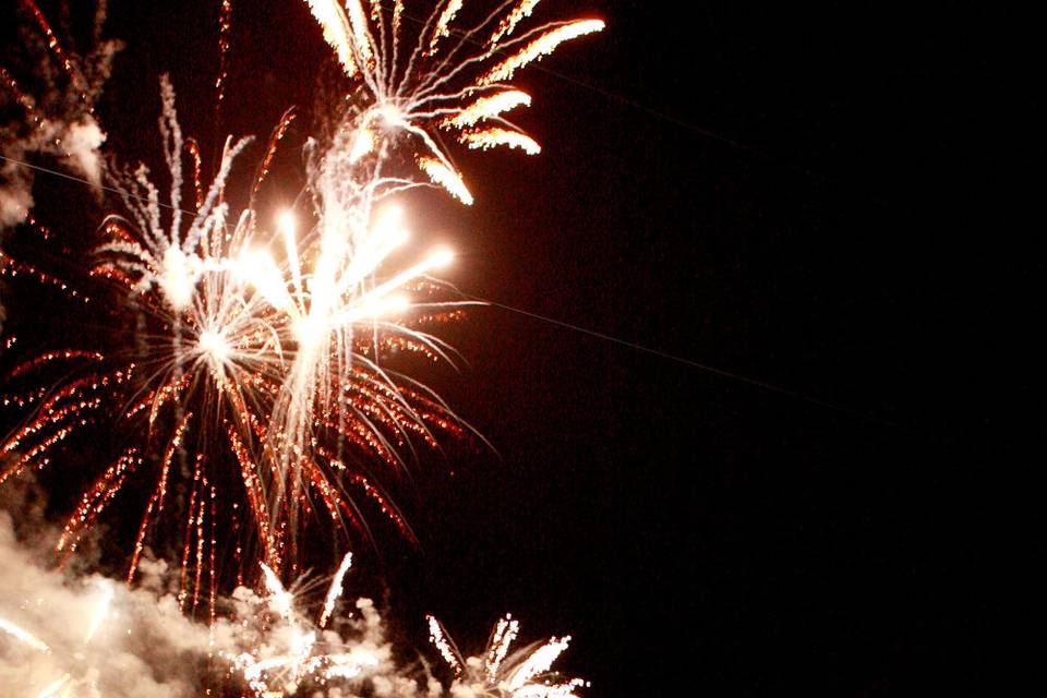
[[[305,0],[346,75],[364,85],[360,113],[347,124],[352,163],[370,158],[377,169],[386,148],[407,144],[418,168],[464,204],[472,194],[438,144],[446,132],[470,148],[498,145],[534,155],[541,146],[506,118],[531,104],[509,80],[516,71],[570,39],[600,32],[600,20],[553,22],[517,33],[538,0],[506,2],[471,28],[455,28],[461,0],[438,3],[411,46],[404,29],[404,3],[392,12],[360,0],[345,10],[330,0]]]

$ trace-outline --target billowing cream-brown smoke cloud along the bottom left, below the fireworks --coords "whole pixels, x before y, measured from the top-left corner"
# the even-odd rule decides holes
[[[32,482],[13,492],[5,493],[3,506],[19,507],[12,509],[15,518],[0,509],[4,697],[34,698],[61,682],[71,687],[70,695],[83,698],[188,698],[207,688],[217,691],[212,695],[251,695],[237,660],[257,665],[293,655],[311,635],[311,654],[360,657],[360,671],[336,678],[270,672],[264,676],[275,695],[435,698],[444,693],[423,665],[398,664],[385,623],[368,599],[337,617],[336,629],[321,630],[298,609],[278,610],[272,597],[240,587],[217,600],[213,625],[194,622],[179,610],[178,575],[164,561],[144,559],[134,590],[98,574],[55,569],[46,562],[53,558],[44,544],[56,531],[43,522],[43,495]]]

